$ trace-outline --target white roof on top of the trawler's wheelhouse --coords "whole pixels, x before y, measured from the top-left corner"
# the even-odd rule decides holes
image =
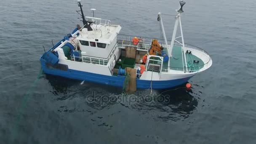
[[[77,40],[110,44],[121,30],[120,25],[93,24],[91,28],[93,31],[83,28],[82,32],[79,32]]]

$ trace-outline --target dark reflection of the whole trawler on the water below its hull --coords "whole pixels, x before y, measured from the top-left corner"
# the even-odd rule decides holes
[[[71,80],[64,77],[46,75],[46,79],[52,86],[56,101],[71,101],[80,99],[80,104],[74,107],[61,106],[61,112],[83,112],[79,110],[81,105],[90,107],[88,112],[97,113],[110,106],[121,104],[132,111],[141,112],[153,120],[164,122],[184,120],[196,111],[202,92],[199,85],[187,90],[184,85],[176,88],[153,91],[138,90],[134,94],[125,94],[122,88],[97,83]],[[197,92],[198,91],[198,92]]]

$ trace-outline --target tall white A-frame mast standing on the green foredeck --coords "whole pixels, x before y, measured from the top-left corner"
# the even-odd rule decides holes
[[[173,29],[173,37],[172,37],[172,40],[171,40],[171,47],[170,47],[168,53],[169,53],[169,56],[170,56],[172,51],[173,51],[174,41],[181,44],[182,45],[182,47],[181,47],[182,48],[182,53],[184,55],[184,60],[185,60],[184,63],[185,63],[185,67],[186,67],[186,70],[187,70],[187,58],[186,58],[186,55],[185,55],[185,43],[184,43],[184,37],[183,37],[183,32],[182,32],[182,27],[181,27],[181,13],[184,12],[182,10],[182,8],[183,8],[183,5],[185,5],[186,2],[181,0],[179,3],[181,5],[181,8],[179,9],[179,11],[177,11],[177,15],[175,16],[175,25],[174,25],[174,29]],[[176,37],[178,26],[180,26],[181,36]],[[180,38],[180,37],[181,37],[182,43],[180,43],[179,41],[176,40],[177,38]]]

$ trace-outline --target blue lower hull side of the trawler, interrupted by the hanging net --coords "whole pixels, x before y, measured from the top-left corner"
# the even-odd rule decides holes
[[[53,67],[49,67],[45,65],[45,62],[40,59],[41,66],[43,68],[43,71],[46,74],[51,75],[58,75],[61,77],[67,77],[71,79],[77,79],[77,80],[85,80],[85,81],[91,81],[95,83],[102,83],[106,85],[113,85],[117,87],[123,87],[123,81],[125,80],[125,76],[107,76],[107,75],[100,75],[100,74],[94,74],[90,72],[82,72],[77,71],[73,69],[66,69],[66,70],[60,70]],[[176,80],[161,80],[161,81],[152,81],[152,88],[153,89],[165,89],[165,88],[172,88],[177,85],[181,85],[186,83],[191,77],[186,77],[182,79],[176,79]],[[136,87],[137,88],[150,88],[150,80],[136,80]]]

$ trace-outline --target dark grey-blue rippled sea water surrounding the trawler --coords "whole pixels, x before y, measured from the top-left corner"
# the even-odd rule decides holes
[[[178,0],[83,0],[91,16],[120,24],[122,34],[159,37],[157,13]],[[0,0],[0,144],[255,144],[256,2],[187,0],[186,43],[204,48],[213,66],[184,88],[139,90],[40,73],[51,47],[79,23],[76,0]],[[168,39],[172,16],[163,16]],[[88,97],[107,100],[94,103]],[[98,97],[97,97],[98,96]],[[155,99],[156,101],[152,101]],[[109,101],[110,99],[110,101]],[[168,103],[163,100],[168,100]]]

